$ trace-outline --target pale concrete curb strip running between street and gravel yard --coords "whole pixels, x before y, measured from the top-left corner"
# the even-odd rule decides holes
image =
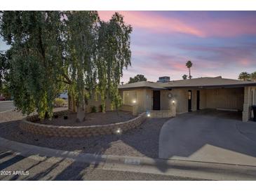
[[[188,160],[165,160],[147,157],[97,155],[75,151],[62,151],[14,142],[0,137],[1,149],[18,152],[18,155],[70,158],[81,163],[101,165],[105,170],[165,174],[194,179],[256,180],[256,167],[221,163],[204,163]]]

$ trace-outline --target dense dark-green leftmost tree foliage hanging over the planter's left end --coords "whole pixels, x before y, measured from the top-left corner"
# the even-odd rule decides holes
[[[59,11],[4,11],[1,35],[11,46],[10,89],[22,113],[52,115],[62,88],[62,22]]]

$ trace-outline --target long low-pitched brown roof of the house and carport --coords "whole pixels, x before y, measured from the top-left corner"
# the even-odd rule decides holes
[[[132,88],[151,88],[151,89],[167,89],[167,88],[241,88],[245,86],[256,86],[255,81],[240,81],[229,78],[217,77],[201,77],[185,80],[170,81],[166,83],[140,81],[137,83],[129,83],[119,85],[119,89]]]

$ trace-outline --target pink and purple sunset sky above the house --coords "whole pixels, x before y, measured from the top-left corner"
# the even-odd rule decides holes
[[[109,20],[114,11],[99,11]],[[132,66],[122,81],[144,74],[181,79],[191,75],[237,78],[256,71],[256,11],[119,11],[132,25]],[[0,50],[6,46],[0,43]]]

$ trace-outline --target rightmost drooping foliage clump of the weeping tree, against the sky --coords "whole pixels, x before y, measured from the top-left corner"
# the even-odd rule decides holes
[[[126,25],[123,16],[114,13],[109,22],[100,22],[97,43],[97,92],[105,111],[108,97],[113,107],[121,105],[118,85],[123,76],[123,68],[130,66],[130,33],[132,27]]]

